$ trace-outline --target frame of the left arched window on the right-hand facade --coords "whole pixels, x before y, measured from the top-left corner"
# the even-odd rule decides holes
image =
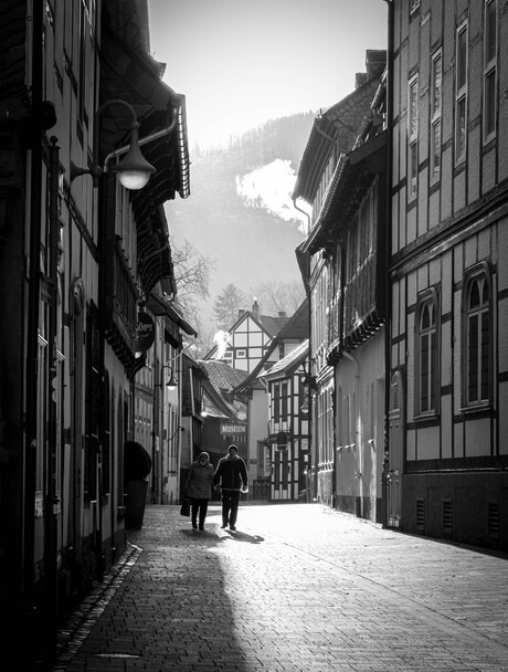
[[[422,329],[421,321],[426,307],[432,306],[434,322],[426,329]],[[434,345],[432,346],[432,336]],[[423,367],[423,338],[431,339],[431,347],[427,348],[426,369],[428,371],[428,382],[426,385],[427,407],[423,408],[422,370]],[[440,295],[436,287],[431,287],[419,294],[416,300],[415,325],[414,325],[414,417],[434,418],[440,413],[441,406],[441,308]],[[434,398],[434,399],[433,399]]]

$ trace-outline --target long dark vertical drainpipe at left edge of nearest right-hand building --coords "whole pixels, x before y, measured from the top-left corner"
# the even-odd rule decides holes
[[[389,469],[389,414],[390,414],[390,391],[391,391],[391,312],[392,312],[392,295],[390,284],[390,259],[392,249],[392,169],[393,169],[393,72],[394,72],[394,34],[395,34],[395,22],[394,22],[394,6],[393,0],[383,0],[388,4],[388,53],[387,53],[387,133],[388,133],[388,151],[387,151],[387,183],[385,183],[385,198],[387,198],[387,228],[385,228],[385,321],[384,321],[384,459],[383,459],[383,471],[381,474],[381,524],[383,527],[388,527],[388,486],[387,486],[387,473]]]

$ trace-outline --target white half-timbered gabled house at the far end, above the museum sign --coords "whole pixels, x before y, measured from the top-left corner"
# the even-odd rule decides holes
[[[225,336],[224,346],[214,346],[204,359],[222,359],[234,369],[251,372],[288,321],[285,313],[277,317],[260,315],[260,304],[255,301],[251,311],[240,311],[237,321]]]

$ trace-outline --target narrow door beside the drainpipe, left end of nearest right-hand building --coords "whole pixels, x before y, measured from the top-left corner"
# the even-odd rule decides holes
[[[387,474],[388,526],[401,524],[401,479],[403,464],[404,393],[401,371],[395,371],[390,385],[389,466]]]

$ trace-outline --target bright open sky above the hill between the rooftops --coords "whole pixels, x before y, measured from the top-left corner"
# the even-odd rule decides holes
[[[150,50],[184,94],[189,145],[319,111],[385,49],[384,0],[148,0]]]

